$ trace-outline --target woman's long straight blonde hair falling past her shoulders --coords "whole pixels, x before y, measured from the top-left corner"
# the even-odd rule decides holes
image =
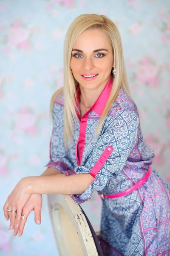
[[[73,20],[65,35],[64,41],[64,86],[54,93],[51,99],[51,110],[53,102],[58,93],[63,89],[64,92],[64,139],[65,146],[67,148],[68,139],[72,139],[73,136],[73,122],[77,118],[76,114],[76,89],[78,86],[77,81],[71,73],[70,61],[71,51],[74,43],[79,35],[86,29],[100,29],[108,35],[113,49],[114,68],[116,69],[116,75],[113,79],[112,90],[105,106],[105,109],[100,118],[99,124],[96,129],[96,136],[99,134],[102,124],[107,116],[113,101],[119,93],[119,89],[122,86],[125,92],[130,96],[130,90],[127,81],[127,75],[125,70],[125,62],[122,49],[122,41],[120,33],[116,25],[105,15],[96,14],[82,14]]]

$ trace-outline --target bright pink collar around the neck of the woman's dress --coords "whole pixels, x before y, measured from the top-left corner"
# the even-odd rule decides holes
[[[110,76],[109,81],[107,82],[105,88],[102,90],[102,93],[100,93],[99,98],[96,100],[96,102],[94,102],[94,105],[91,107],[91,109],[89,109],[86,113],[88,114],[91,110],[95,111],[99,116],[102,116],[102,113],[104,111],[105,105],[108,101],[108,98],[110,96],[111,93],[111,88],[112,88],[112,84],[113,84],[113,77]],[[80,101],[80,87],[77,87],[77,107],[79,105],[79,101]],[[76,111],[77,112],[77,111]],[[77,115],[79,116],[79,113],[77,112]]]

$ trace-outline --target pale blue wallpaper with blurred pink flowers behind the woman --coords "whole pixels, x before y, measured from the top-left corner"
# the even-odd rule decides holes
[[[62,86],[63,42],[80,14],[107,15],[119,28],[130,90],[141,113],[153,166],[170,182],[169,0],[0,0],[0,256],[53,256],[57,247],[46,195],[42,224],[28,217],[23,236],[12,236],[3,205],[24,176],[49,160],[49,104]],[[82,205],[99,231],[101,200]]]

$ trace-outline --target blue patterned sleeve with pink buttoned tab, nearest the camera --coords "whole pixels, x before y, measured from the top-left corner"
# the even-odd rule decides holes
[[[127,157],[136,146],[139,128],[139,116],[136,111],[116,112],[108,128],[93,145],[93,149],[84,166],[78,166],[70,174],[89,173],[93,183],[81,195],[71,195],[78,204],[89,199],[94,191],[101,191],[108,179],[121,172]]]

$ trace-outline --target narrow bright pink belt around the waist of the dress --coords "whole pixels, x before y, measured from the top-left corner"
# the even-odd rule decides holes
[[[135,189],[138,189],[140,186],[142,186],[142,184],[148,179],[148,177],[150,176],[151,173],[151,167],[149,166],[149,169],[146,173],[146,175],[144,175],[144,177],[139,180],[138,182],[136,182],[135,185],[131,186],[129,189],[126,189],[123,192],[120,192],[118,194],[114,194],[114,195],[103,195],[103,194],[99,194],[102,198],[119,198],[121,196],[125,196],[128,195],[130,193],[132,193]]]

